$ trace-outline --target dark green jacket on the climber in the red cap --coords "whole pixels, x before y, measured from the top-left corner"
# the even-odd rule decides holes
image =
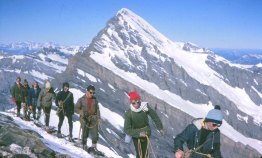
[[[148,108],[148,111],[140,111],[140,112],[133,112],[133,118],[131,116],[131,110],[128,109],[128,111],[125,113],[125,123],[124,123],[124,131],[126,134],[134,137],[139,138],[139,134],[142,131],[145,131],[148,133],[148,136],[151,135],[151,128],[148,124],[148,116],[149,115],[153,121],[155,122],[155,125],[157,126],[157,129],[163,129],[162,122],[160,118],[158,117],[157,113],[151,109],[151,107],[146,105]],[[147,127],[146,127],[147,126]],[[146,127],[144,129],[141,129],[143,127]]]

